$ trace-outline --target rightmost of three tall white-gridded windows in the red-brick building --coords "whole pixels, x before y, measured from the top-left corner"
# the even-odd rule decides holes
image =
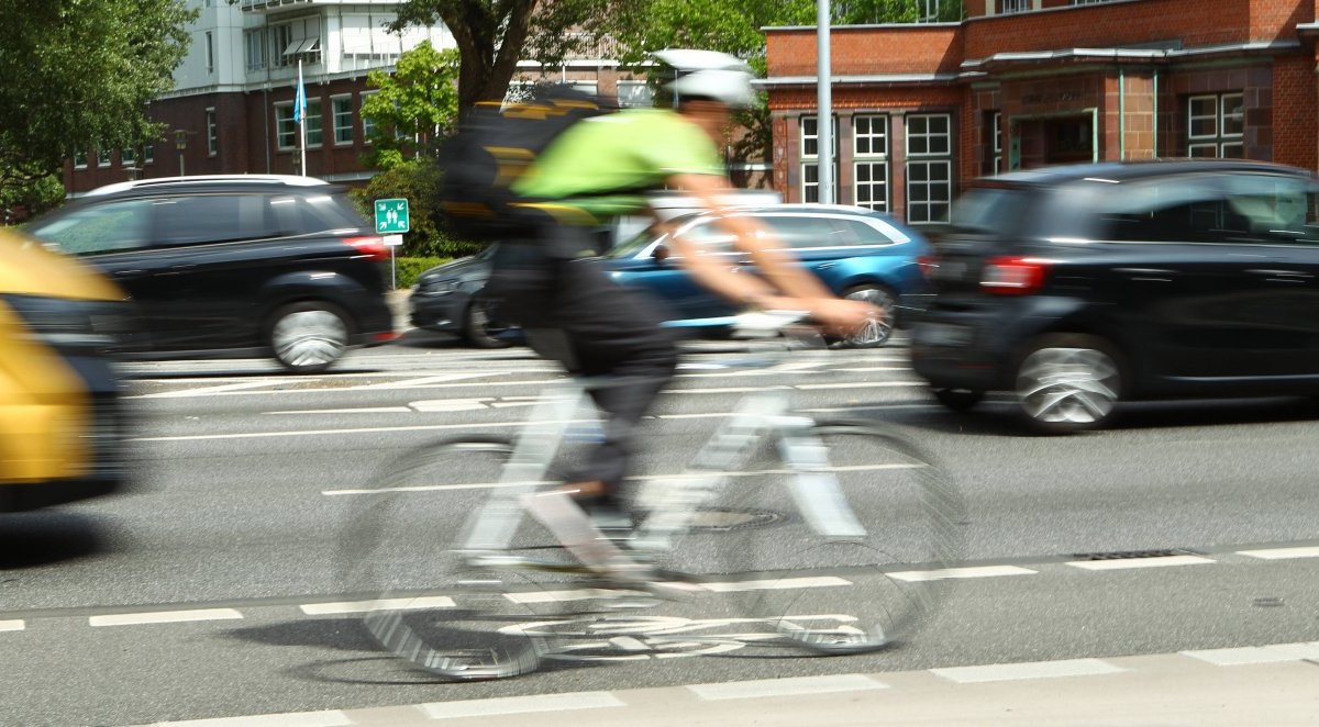
[[[952,200],[952,116],[906,117],[907,221],[942,223]]]

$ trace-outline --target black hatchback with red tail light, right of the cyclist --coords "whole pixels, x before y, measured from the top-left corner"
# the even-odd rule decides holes
[[[1010,391],[1053,432],[1129,399],[1319,392],[1319,184],[1257,162],[983,179],[927,261],[915,371],[956,410]]]

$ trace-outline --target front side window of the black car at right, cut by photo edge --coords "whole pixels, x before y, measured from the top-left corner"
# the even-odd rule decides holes
[[[1223,179],[1228,208],[1261,242],[1319,245],[1319,195],[1308,179],[1241,174]]]

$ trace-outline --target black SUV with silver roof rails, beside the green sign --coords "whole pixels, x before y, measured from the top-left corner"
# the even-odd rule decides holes
[[[137,303],[152,358],[274,356],[321,371],[394,337],[375,234],[307,176],[182,176],[95,190],[30,225]]]

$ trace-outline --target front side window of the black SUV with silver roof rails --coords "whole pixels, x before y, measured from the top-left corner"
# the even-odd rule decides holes
[[[150,202],[129,199],[82,207],[29,230],[74,256],[133,250],[150,244]]]

